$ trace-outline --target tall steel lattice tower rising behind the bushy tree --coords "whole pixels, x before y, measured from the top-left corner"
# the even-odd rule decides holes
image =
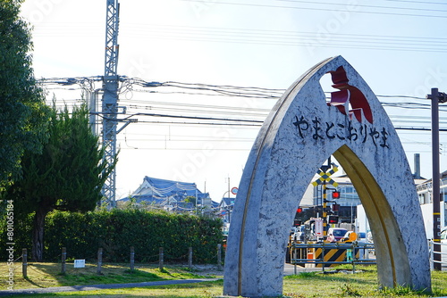
[[[116,156],[116,126],[118,115],[118,26],[120,4],[118,0],[106,0],[105,19],[105,70],[103,78],[103,148],[104,160],[108,165],[114,164]],[[103,186],[103,197],[109,207],[115,206],[115,179],[113,170]]]

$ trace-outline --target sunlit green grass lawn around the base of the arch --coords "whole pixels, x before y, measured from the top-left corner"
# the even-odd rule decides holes
[[[6,266],[0,268],[0,275],[5,277]],[[67,264],[67,268],[69,265]],[[166,266],[160,271],[155,266],[136,267],[134,273],[129,272],[127,264],[103,266],[103,275],[97,275],[94,265],[85,269],[67,269],[60,275],[60,264],[33,263],[28,270],[29,279],[23,279],[18,269],[15,277],[15,288],[74,286],[110,283],[130,283],[139,281],[156,281],[164,279],[215,277],[199,269],[189,271],[178,266]],[[343,269],[343,268],[338,268]],[[375,266],[356,267],[358,273],[340,270],[334,274],[303,272],[299,275],[284,277],[283,297],[439,297],[447,296],[447,272],[432,272],[433,293],[411,291],[405,287],[396,289],[378,289]],[[4,278],[2,278],[4,280]],[[2,289],[6,285],[2,283]],[[19,295],[17,297],[217,297],[222,296],[223,280],[203,282],[199,284],[148,286],[87,292],[67,292],[56,294]]]

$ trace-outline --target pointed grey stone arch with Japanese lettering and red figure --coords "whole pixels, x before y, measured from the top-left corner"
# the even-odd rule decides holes
[[[338,89],[329,102],[320,86],[327,73]],[[299,78],[257,136],[232,213],[223,294],[282,294],[294,211],[332,154],[367,212],[379,283],[431,288],[422,214],[399,137],[367,83],[337,56]]]

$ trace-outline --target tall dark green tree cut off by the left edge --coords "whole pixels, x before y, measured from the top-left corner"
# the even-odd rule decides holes
[[[0,192],[20,177],[24,150],[40,151],[48,108],[31,68],[30,30],[19,0],[0,1]]]

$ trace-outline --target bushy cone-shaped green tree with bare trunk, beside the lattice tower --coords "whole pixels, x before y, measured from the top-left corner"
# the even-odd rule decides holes
[[[41,261],[44,226],[48,212],[92,211],[101,199],[101,188],[114,165],[103,161],[104,151],[89,127],[85,104],[57,112],[52,110],[49,139],[42,153],[27,151],[23,175],[7,191],[20,213],[34,213],[32,256]]]

